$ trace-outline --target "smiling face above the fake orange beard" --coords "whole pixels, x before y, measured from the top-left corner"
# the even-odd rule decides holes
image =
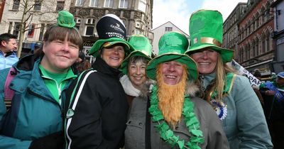
[[[161,63],[163,82],[168,85],[178,84],[182,79],[184,67],[180,62],[170,61]]]

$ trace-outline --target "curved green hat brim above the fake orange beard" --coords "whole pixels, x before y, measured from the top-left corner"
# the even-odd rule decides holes
[[[191,57],[184,54],[166,53],[159,55],[148,63],[146,74],[150,79],[156,79],[157,65],[162,62],[177,61],[187,66],[187,78],[196,80],[198,77],[197,64]]]

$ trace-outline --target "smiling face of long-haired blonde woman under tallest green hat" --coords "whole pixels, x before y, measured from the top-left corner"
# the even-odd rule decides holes
[[[190,57],[197,62],[200,74],[207,75],[214,72],[218,60],[218,53],[216,51],[204,48],[204,50],[193,53]]]

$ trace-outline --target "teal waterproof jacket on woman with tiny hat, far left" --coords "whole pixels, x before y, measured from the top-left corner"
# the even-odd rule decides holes
[[[45,86],[39,63],[39,57],[28,55],[13,65],[18,74],[9,85],[15,90],[9,111],[4,104],[4,84],[9,68],[0,70],[1,149],[27,149],[32,140],[62,131],[62,106]],[[66,78],[67,84],[61,92],[62,102],[65,101],[65,89],[75,77]]]

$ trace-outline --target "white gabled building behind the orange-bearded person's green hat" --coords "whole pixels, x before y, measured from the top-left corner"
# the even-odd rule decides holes
[[[152,30],[152,32],[154,33],[154,39],[153,39],[153,43],[152,43],[152,45],[153,45],[153,55],[158,55],[158,51],[159,51],[158,43],[159,43],[160,37],[162,37],[162,35],[164,35],[168,31],[178,31],[178,32],[184,34],[187,38],[189,38],[189,35],[187,35],[187,33],[185,33],[182,30],[180,30],[180,28],[175,26],[170,21],[168,21],[166,23],[163,23],[162,25],[160,25],[157,28],[154,28]]]

